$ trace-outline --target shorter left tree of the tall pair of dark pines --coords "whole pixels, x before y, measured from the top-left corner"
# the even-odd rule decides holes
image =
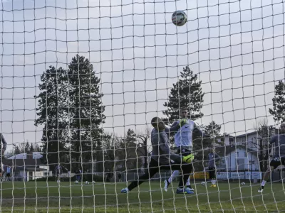
[[[68,95],[66,81],[66,70],[61,67],[56,69],[50,66],[41,75],[39,84],[40,94],[38,108],[36,109],[38,119],[35,125],[43,125],[42,152],[43,163],[51,165],[51,170],[56,164],[61,163],[66,155],[66,139],[68,136]]]

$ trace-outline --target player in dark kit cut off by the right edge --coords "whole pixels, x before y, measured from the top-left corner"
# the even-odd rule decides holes
[[[280,126],[280,134],[271,137],[269,143],[274,147],[274,155],[270,161],[269,168],[264,173],[261,187],[258,190],[260,193],[264,190],[264,185],[269,178],[271,170],[275,170],[279,165],[285,165],[285,122]]]

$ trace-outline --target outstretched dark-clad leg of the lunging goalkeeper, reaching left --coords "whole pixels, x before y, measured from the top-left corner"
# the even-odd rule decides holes
[[[133,190],[135,187],[138,187],[138,185],[141,185],[142,182],[145,182],[145,180],[149,180],[152,178],[155,173],[159,170],[159,166],[155,160],[150,161],[150,165],[148,167],[148,170],[146,170],[145,174],[140,175],[137,180],[134,180],[133,182],[128,185],[128,187],[121,190],[121,193],[128,193],[129,191]]]

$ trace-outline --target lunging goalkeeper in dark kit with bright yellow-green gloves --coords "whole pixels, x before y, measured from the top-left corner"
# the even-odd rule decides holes
[[[183,175],[180,178],[180,183],[177,187],[176,193],[193,194],[193,192],[187,189],[185,185],[190,175],[192,168],[192,165],[190,163],[192,163],[194,155],[190,154],[185,157],[174,155],[170,153],[169,147],[169,133],[171,131],[177,131],[177,129],[179,129],[180,126],[183,126],[185,122],[185,119],[182,119],[182,121],[180,121],[180,124],[167,129],[162,119],[158,117],[152,119],[151,124],[154,128],[151,132],[152,155],[148,170],[146,170],[145,174],[141,175],[138,180],[134,180],[128,187],[121,190],[121,193],[130,192],[135,187],[138,187],[138,185],[142,184],[142,182],[145,182],[146,180],[152,178],[152,176],[155,175],[155,173],[160,172],[160,170],[182,170]],[[175,163],[172,163],[172,160]]]

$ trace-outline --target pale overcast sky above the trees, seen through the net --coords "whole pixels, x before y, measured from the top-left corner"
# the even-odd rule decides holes
[[[49,65],[79,53],[101,79],[106,131],[143,131],[162,116],[182,67],[202,80],[204,117],[236,135],[268,117],[284,80],[284,3],[230,0],[2,0],[1,132],[9,143],[40,142],[38,84]],[[171,15],[187,13],[185,26]],[[158,89],[158,90],[156,90]],[[158,113],[156,112],[158,111]]]

